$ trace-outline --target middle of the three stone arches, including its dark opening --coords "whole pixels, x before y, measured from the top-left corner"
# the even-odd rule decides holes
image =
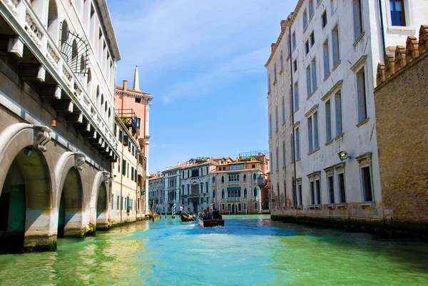
[[[65,152],[58,159],[54,177],[58,184],[54,189],[54,208],[58,210],[58,237],[81,237],[85,213],[81,165],[85,155],[79,152]]]

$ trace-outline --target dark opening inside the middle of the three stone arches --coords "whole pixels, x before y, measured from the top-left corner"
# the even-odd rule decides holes
[[[81,176],[70,168],[63,183],[58,210],[58,238],[82,236],[83,190]]]

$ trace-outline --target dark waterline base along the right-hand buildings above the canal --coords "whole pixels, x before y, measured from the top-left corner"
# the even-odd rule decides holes
[[[361,218],[326,218],[295,215],[270,215],[270,218],[285,223],[339,228],[355,233],[372,233],[385,238],[422,238],[428,240],[428,222],[414,223],[394,220],[364,220]]]

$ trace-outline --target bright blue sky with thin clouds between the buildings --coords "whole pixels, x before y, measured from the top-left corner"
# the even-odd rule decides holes
[[[116,83],[154,99],[149,170],[267,150],[270,44],[297,0],[108,0],[121,50]]]

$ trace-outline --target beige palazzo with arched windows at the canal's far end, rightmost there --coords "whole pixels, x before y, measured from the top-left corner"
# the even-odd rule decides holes
[[[260,152],[221,162],[211,171],[211,204],[225,214],[269,213],[268,172],[269,157]]]

